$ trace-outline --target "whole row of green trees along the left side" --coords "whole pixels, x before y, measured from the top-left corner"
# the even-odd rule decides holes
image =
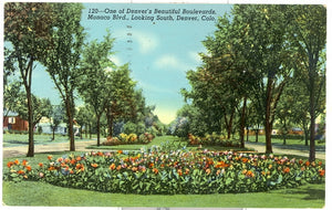
[[[40,116],[51,116],[40,109],[48,109],[50,101],[37,99],[31,93],[32,73],[37,64],[43,65],[58,88],[66,117],[70,150],[75,150],[73,123],[75,118],[76,93],[85,107],[79,111],[82,124],[96,122],[97,145],[100,145],[101,118],[105,114],[108,136],[113,136],[115,122],[143,122],[152,114],[145,105],[142,91],[135,88],[129,66],[116,66],[111,60],[114,39],[111,33],[103,41],[86,42],[81,25],[81,3],[19,3],[4,4],[4,87],[13,92],[21,84],[24,87],[23,106],[29,122],[28,157],[34,155],[33,128]],[[21,81],[10,83],[10,75],[19,72]],[[14,105],[19,97],[4,98],[6,105]],[[13,107],[7,107],[8,109]],[[49,109],[50,111],[50,109]],[[92,112],[89,113],[89,111]],[[85,112],[82,113],[82,112]],[[85,117],[89,116],[90,120]],[[52,117],[52,116],[51,116]],[[90,122],[90,123],[86,123]]]

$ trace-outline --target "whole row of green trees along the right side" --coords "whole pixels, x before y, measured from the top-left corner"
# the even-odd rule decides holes
[[[242,146],[245,127],[262,124],[266,153],[272,153],[276,119],[292,120],[309,134],[315,159],[315,119],[325,109],[325,41],[323,6],[235,6],[203,42],[203,65],[187,72],[191,90],[181,93],[190,105],[179,116],[198,135],[225,128],[230,138],[236,127]]]

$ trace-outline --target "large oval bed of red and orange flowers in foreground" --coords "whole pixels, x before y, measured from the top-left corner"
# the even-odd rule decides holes
[[[87,153],[49,156],[31,167],[8,162],[3,179],[40,180],[56,186],[139,195],[258,192],[324,182],[321,161],[232,151]]]

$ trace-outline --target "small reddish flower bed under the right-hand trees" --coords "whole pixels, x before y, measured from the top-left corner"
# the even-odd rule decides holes
[[[240,141],[235,139],[226,139],[217,134],[207,134],[205,137],[188,135],[189,145],[205,145],[205,146],[221,146],[221,147],[240,147]]]

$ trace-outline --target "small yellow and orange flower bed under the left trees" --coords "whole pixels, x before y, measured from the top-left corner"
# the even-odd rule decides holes
[[[136,134],[120,134],[118,137],[107,137],[102,145],[115,146],[115,145],[131,145],[131,144],[148,144],[155,138],[154,135],[145,133],[139,136]]]

